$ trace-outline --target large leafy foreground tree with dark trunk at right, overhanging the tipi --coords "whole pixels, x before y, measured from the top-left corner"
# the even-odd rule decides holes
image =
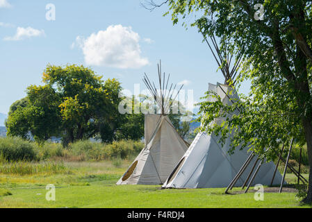
[[[242,138],[238,141],[245,145],[252,142],[252,148],[260,154],[263,148],[276,148],[274,140],[277,138],[281,143],[288,142],[293,136],[299,141],[304,138],[310,165],[309,191],[304,202],[311,203],[312,2],[263,1],[263,15],[262,7],[253,0],[164,2],[170,8],[167,14],[172,13],[174,24],[180,19],[190,21],[194,15],[190,25],[197,27],[204,37],[215,34],[223,43],[233,42],[232,51],[244,52],[244,70],[240,80],[252,80],[252,99],[234,105],[237,108],[241,106],[238,116],[246,119],[235,118],[234,114],[232,121],[227,118],[223,126],[237,128],[235,138]],[[187,26],[186,22],[183,24]],[[206,105],[202,104],[204,114],[211,110]],[[226,109],[220,103],[215,107],[214,111]],[[210,120],[208,118],[207,122]],[[217,130],[213,131],[217,133]],[[298,133],[294,133],[296,130]]]

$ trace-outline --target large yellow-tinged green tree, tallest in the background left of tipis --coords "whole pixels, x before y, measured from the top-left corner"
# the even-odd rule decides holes
[[[90,68],[76,65],[48,65],[44,83],[60,95],[60,116],[65,130],[65,143],[93,137],[99,130],[105,141],[113,137],[117,121],[118,93],[122,89],[115,79],[104,82]],[[109,134],[109,135],[108,135]]]

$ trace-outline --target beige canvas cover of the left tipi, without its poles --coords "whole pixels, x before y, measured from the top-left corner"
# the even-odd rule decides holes
[[[163,184],[187,149],[166,115],[145,115],[145,148],[117,185]]]

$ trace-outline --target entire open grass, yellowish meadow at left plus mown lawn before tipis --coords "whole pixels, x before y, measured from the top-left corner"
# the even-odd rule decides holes
[[[65,166],[65,173],[0,174],[0,207],[310,207],[299,205],[295,193],[265,193],[263,201],[256,201],[254,193],[223,194],[224,188],[116,186],[129,166],[126,161],[67,162]],[[296,178],[288,174],[286,180],[295,182]],[[56,201],[46,200],[47,184],[56,186]]]

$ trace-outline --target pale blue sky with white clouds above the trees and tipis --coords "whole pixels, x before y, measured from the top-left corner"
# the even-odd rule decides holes
[[[46,19],[48,3],[56,7],[55,21]],[[197,30],[173,26],[170,16],[163,17],[166,9],[149,12],[136,0],[0,0],[0,112],[7,113],[14,101],[26,96],[28,85],[42,84],[48,63],[92,67],[104,79],[118,78],[133,91],[136,83],[145,89],[145,72],[156,78],[161,59],[171,81],[187,83],[184,89],[193,89],[199,101],[208,83],[223,83],[222,74]],[[121,33],[129,34],[122,39],[129,45],[112,46],[110,41]],[[240,92],[248,90],[246,84]]]

